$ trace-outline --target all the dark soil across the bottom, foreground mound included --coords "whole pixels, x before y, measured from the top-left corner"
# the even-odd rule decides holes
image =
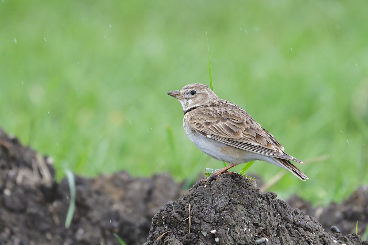
[[[367,187],[325,208],[292,198],[291,206],[299,209],[237,175],[198,181],[183,197],[188,191],[181,187],[164,173],[75,176],[75,212],[66,228],[67,179],[58,183],[51,158],[0,129],[1,245],[118,245],[115,235],[127,245],[144,244],[147,238],[147,244],[368,244],[350,234],[356,221],[358,234],[367,226]],[[341,232],[330,231],[331,226]]]

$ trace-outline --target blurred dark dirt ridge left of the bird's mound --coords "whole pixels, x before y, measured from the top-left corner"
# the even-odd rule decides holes
[[[181,195],[169,174],[76,176],[75,213],[66,229],[69,186],[66,179],[56,183],[51,162],[0,129],[1,245],[119,244],[114,233],[129,245],[141,245],[153,215]]]

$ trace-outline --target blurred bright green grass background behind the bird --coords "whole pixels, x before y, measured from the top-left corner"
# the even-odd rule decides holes
[[[368,183],[368,7],[362,1],[0,1],[0,126],[57,175],[222,162],[185,134],[168,91],[209,84],[305,162],[270,190],[314,203]],[[244,165],[238,166],[240,170]],[[267,181],[283,171],[255,162]]]

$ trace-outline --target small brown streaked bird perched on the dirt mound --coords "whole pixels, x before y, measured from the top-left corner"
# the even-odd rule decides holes
[[[167,93],[183,107],[183,126],[190,140],[205,154],[229,163],[211,174],[218,177],[231,167],[250,161],[266,161],[309,179],[291,163],[302,161],[284,152],[284,147],[244,109],[220,99],[208,86],[192,83]]]

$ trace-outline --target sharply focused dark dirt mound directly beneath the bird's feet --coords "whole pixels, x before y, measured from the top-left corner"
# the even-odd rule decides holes
[[[314,218],[263,194],[237,174],[198,181],[152,219],[146,245],[158,244],[368,244],[357,235],[326,233]]]

